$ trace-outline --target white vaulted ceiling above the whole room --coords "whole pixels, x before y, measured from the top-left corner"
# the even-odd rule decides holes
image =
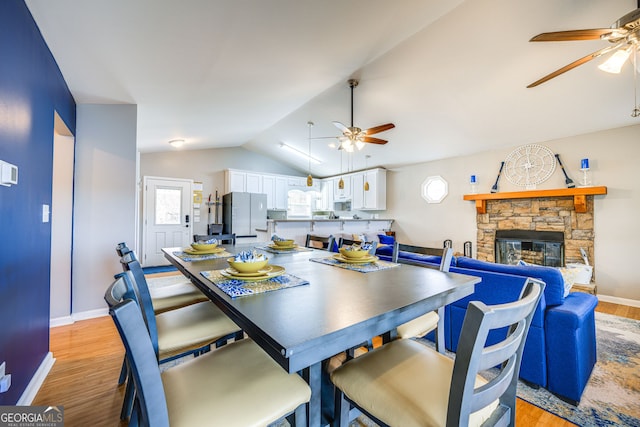
[[[527,84],[604,46],[529,43],[608,27],[636,0],[26,0],[77,103],[138,106],[141,152],[243,146],[301,171],[331,124],[393,122],[353,156],[387,168],[640,124],[632,67],[598,58]],[[345,171],[314,140],[318,176]],[[605,141],[603,141],[605,143]]]

